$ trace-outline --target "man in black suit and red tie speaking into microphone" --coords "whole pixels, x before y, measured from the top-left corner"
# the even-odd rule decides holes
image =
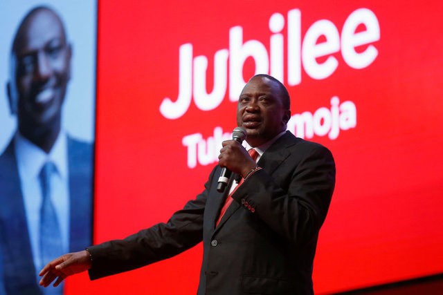
[[[256,160],[239,142],[223,142],[204,191],[167,223],[61,256],[42,269],[40,284],[57,285],[87,269],[91,279],[118,274],[203,240],[200,295],[313,294],[314,254],[335,164],[324,146],[286,131],[289,104],[277,79],[252,77],[239,96],[237,125],[246,129]],[[242,178],[224,193],[217,191],[221,166]]]

